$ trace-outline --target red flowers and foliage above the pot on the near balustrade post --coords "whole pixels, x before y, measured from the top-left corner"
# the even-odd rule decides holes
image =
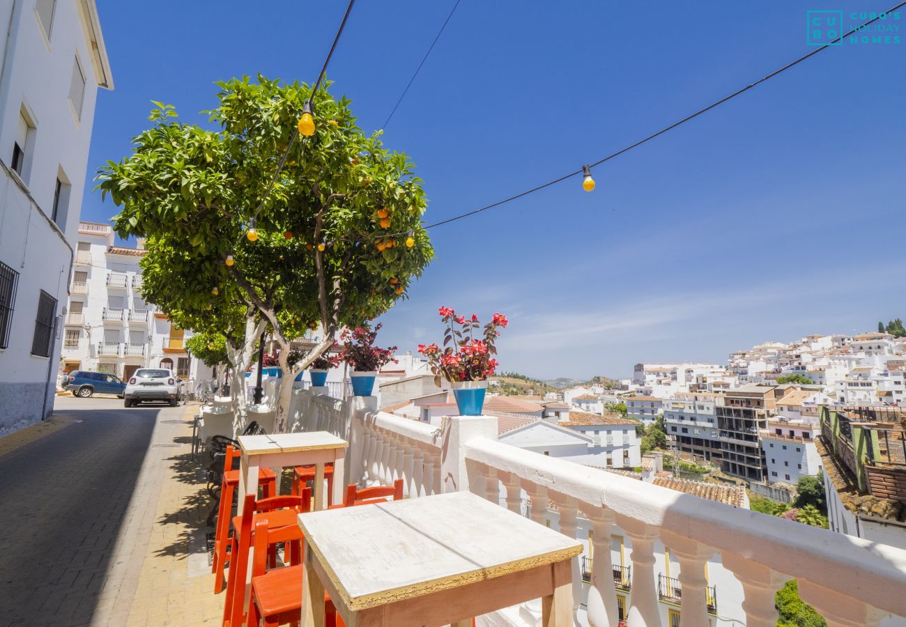
[[[448,381],[483,381],[492,376],[497,367],[494,342],[500,331],[509,324],[504,314],[494,314],[491,323],[484,329],[484,339],[481,335],[475,338],[479,327],[478,316],[472,314],[470,319],[457,314],[450,307],[440,307],[438,314],[447,324],[444,333],[444,349],[440,350],[436,343],[419,344],[419,353],[428,358],[431,371],[437,376],[443,376]]]

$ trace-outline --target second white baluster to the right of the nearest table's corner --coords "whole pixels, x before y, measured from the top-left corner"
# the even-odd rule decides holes
[[[627,622],[632,627],[657,627],[660,625],[658,590],[654,584],[657,529],[628,516],[617,515],[616,522],[632,542],[632,593]]]

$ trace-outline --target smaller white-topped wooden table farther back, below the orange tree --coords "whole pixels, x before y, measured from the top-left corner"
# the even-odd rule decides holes
[[[314,465],[314,509],[324,509],[324,464],[333,462],[333,502],[342,503],[343,457],[346,440],[327,431],[275,433],[265,436],[239,436],[242,458],[239,465],[237,516],[242,515],[245,496],[257,494],[258,468],[273,468],[277,477],[287,466]]]

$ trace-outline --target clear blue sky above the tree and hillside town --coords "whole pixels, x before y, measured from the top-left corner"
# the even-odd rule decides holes
[[[880,0],[878,0],[880,1]],[[888,4],[891,0],[886,0]],[[244,73],[313,80],[346,3],[100,0],[116,91],[100,92],[88,177],[147,128],[184,121]],[[453,0],[359,0],[333,93],[380,128]],[[812,50],[831,0],[462,0],[385,143],[425,180],[428,222],[579,169]],[[906,11],[902,43],[846,43],[593,171],[432,231],[438,258],[382,317],[400,350],[439,339],[440,304],[506,313],[505,370],[629,376],[641,361],[853,333],[906,314]],[[85,193],[82,218],[115,212]]]

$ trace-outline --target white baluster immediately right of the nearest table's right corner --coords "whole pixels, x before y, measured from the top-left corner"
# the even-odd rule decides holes
[[[613,513],[604,507],[584,505],[583,512],[592,523],[592,584],[585,602],[588,622],[592,627],[610,627],[620,622],[611,559]]]

